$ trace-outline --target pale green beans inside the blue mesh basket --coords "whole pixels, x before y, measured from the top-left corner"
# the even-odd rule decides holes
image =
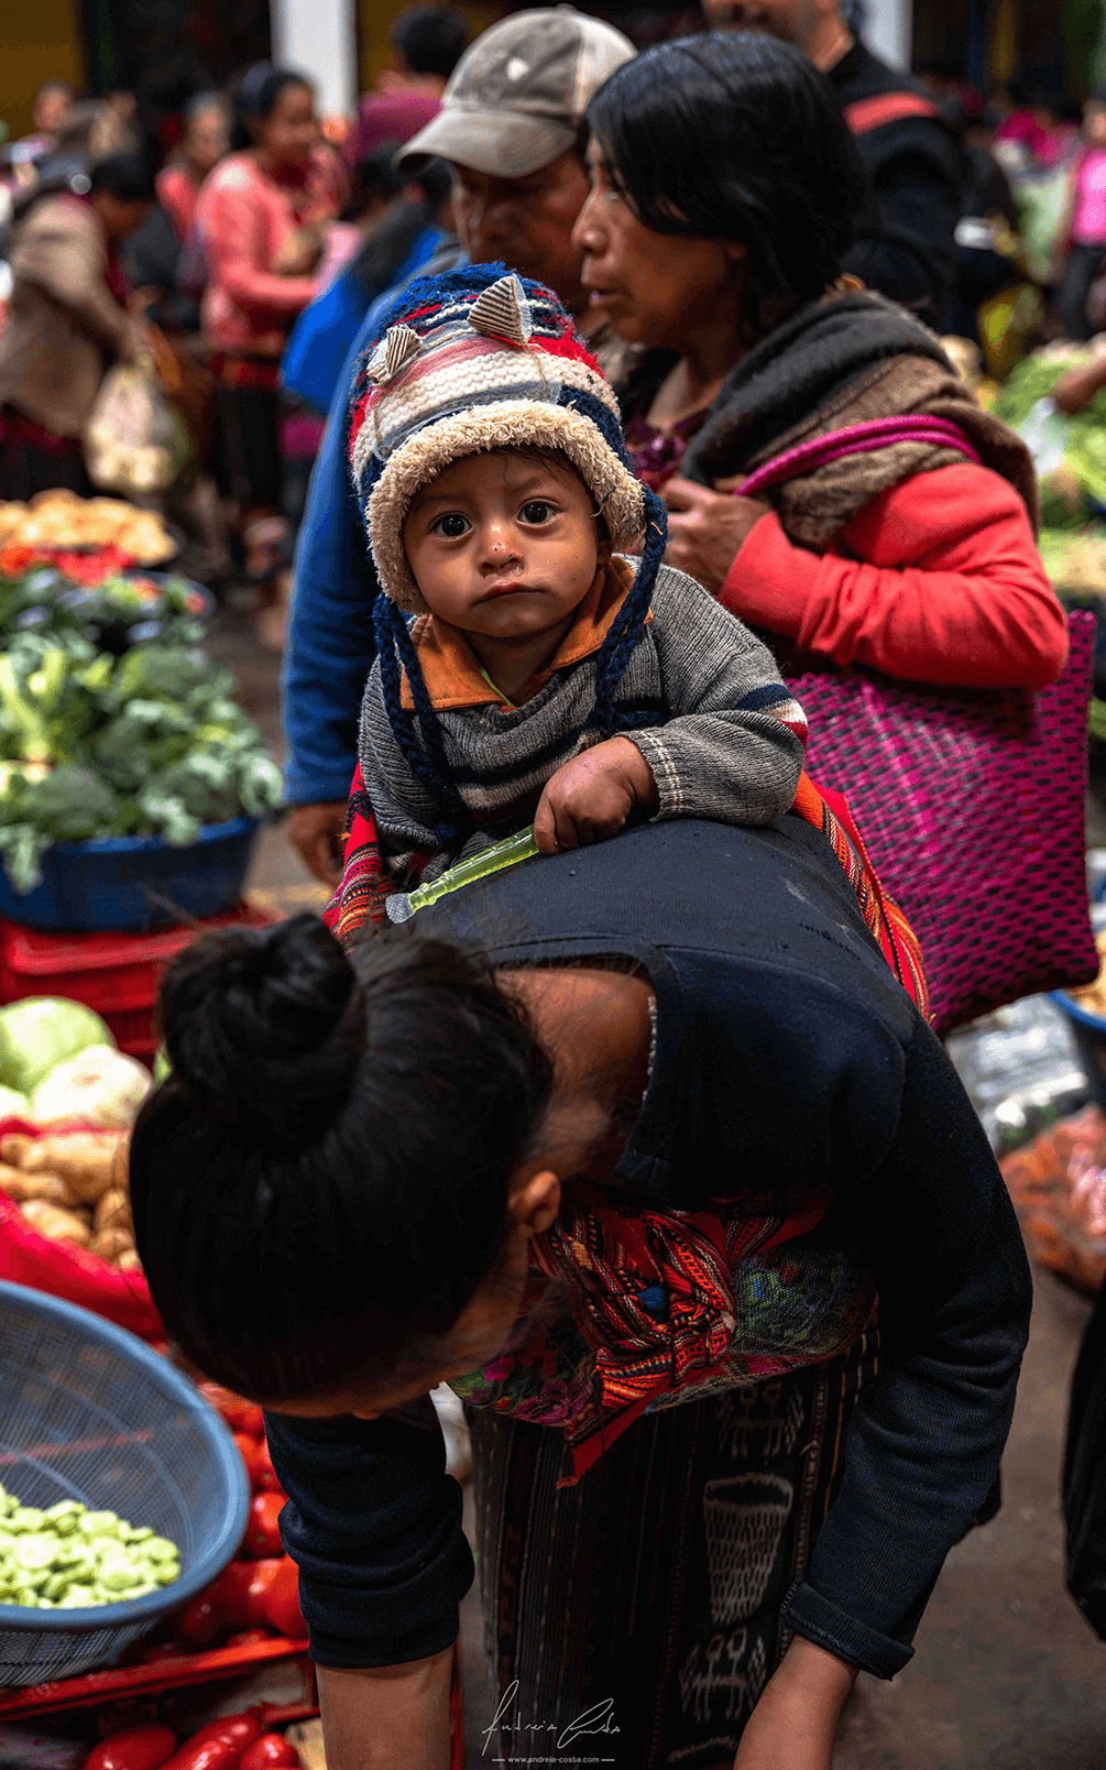
[[[44,1512],[0,1487],[0,1604],[83,1611],[127,1604],[180,1577],[180,1551],[149,1524],[60,1499]]]

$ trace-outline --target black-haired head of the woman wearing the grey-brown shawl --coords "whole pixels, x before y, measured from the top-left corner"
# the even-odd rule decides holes
[[[623,338],[680,349],[720,308],[757,336],[841,274],[865,175],[832,88],[791,44],[717,32],[646,50],[588,122],[593,191],[573,239]]]

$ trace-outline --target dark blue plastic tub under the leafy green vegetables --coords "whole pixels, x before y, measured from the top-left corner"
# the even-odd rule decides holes
[[[242,896],[257,818],[212,823],[188,848],[159,835],[55,843],[42,883],[18,897],[0,867],[0,915],[57,935],[168,927],[230,910]]]

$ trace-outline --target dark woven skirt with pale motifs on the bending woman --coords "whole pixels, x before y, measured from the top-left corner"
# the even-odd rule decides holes
[[[733,1765],[876,1365],[869,1333],[828,1365],[644,1414],[561,1490],[559,1432],[465,1409],[488,1763]]]

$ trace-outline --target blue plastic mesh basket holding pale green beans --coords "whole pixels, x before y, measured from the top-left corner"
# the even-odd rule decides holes
[[[133,1333],[0,1283],[0,1481],[27,1506],[78,1499],[149,1524],[180,1577],[85,1611],[0,1604],[0,1685],[74,1678],[119,1658],[219,1574],[242,1540],[250,1481],[223,1420]]]

